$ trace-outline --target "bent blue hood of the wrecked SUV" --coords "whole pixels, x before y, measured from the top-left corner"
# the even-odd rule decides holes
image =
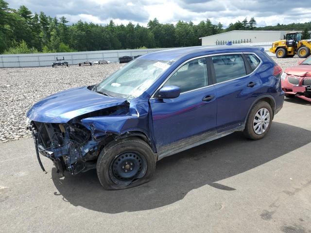
[[[124,98],[108,97],[87,87],[78,87],[40,100],[27,112],[27,117],[44,123],[67,123],[74,117],[121,105],[125,101]]]

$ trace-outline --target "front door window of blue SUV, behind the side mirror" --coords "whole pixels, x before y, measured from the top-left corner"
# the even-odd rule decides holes
[[[195,59],[180,67],[163,86],[169,85],[180,87],[181,93],[207,86],[206,59]]]

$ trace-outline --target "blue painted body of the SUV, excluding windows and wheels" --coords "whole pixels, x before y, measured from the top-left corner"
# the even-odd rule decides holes
[[[210,54],[252,52],[262,60],[259,68],[244,77],[225,83],[215,83],[214,74],[208,74],[212,81],[208,86],[198,90],[177,95],[179,88],[168,86],[163,94],[176,97],[173,99],[151,98],[159,86],[172,72],[185,61]],[[239,46],[189,47],[148,53],[138,59],[172,61],[154,83],[141,96],[126,100],[125,98],[107,97],[86,87],[73,88],[47,97],[37,102],[27,113],[33,121],[45,123],[68,123],[81,115],[94,111],[128,104],[126,109],[116,110],[108,116],[93,116],[78,119],[79,124],[92,132],[93,139],[83,150],[94,148],[95,139],[106,135],[121,135],[128,132],[140,132],[145,135],[155,152],[170,154],[177,151],[174,146],[190,148],[199,145],[202,135],[217,138],[237,130],[243,130],[245,119],[253,104],[260,98],[268,97],[274,103],[274,110],[283,105],[284,93],[279,80],[273,76],[275,63],[262,48]],[[207,60],[208,63],[208,60]],[[208,81],[208,82],[209,82]],[[214,83],[213,83],[214,82]],[[247,87],[254,82],[254,87]],[[178,93],[179,94],[179,93]],[[212,99],[204,101],[206,97]],[[87,152],[83,153],[86,154]]]

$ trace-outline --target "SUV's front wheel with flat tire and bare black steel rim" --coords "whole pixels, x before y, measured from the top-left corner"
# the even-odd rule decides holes
[[[107,190],[135,187],[151,180],[155,163],[155,154],[145,141],[128,137],[104,147],[97,160],[97,176]]]

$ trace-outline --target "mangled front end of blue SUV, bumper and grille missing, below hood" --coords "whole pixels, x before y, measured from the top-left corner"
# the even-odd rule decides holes
[[[45,171],[38,153],[51,159],[57,172],[71,174],[95,168],[99,141],[79,124],[56,124],[32,121],[29,127],[35,140],[37,157]]]

